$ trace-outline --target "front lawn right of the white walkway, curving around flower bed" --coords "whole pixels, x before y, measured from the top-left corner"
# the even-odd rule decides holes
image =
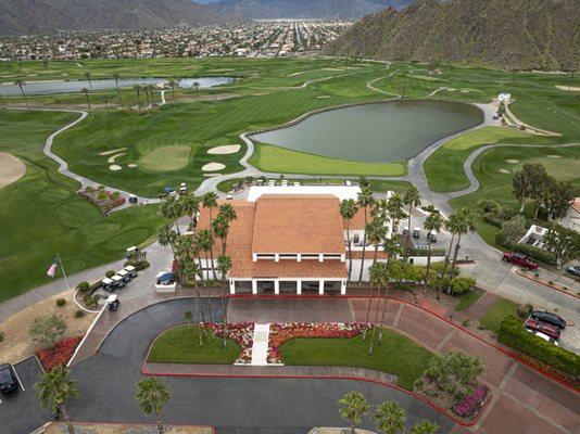
[[[375,369],[399,375],[398,384],[413,388],[429,367],[432,354],[408,337],[383,329],[382,344],[368,355],[369,341],[353,339],[294,339],[282,344],[285,365],[338,366]]]

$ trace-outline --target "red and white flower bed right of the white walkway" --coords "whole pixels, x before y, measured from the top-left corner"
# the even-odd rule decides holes
[[[297,337],[354,337],[363,332],[363,323],[291,322],[269,327],[268,363],[281,363],[280,346]]]

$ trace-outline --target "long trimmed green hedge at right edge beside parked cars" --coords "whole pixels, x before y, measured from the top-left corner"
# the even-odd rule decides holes
[[[500,323],[497,340],[518,352],[580,379],[580,356],[534,336],[513,315],[507,316]]]

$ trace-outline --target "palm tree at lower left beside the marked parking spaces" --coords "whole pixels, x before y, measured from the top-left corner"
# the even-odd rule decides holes
[[[59,411],[62,411],[66,431],[68,431],[68,434],[74,434],[75,427],[71,423],[66,403],[80,394],[76,388],[76,380],[71,380],[68,378],[70,374],[71,370],[68,368],[58,366],[45,372],[42,381],[37,383],[35,387],[38,390],[37,396],[42,408],[49,407],[52,414],[58,414]]]

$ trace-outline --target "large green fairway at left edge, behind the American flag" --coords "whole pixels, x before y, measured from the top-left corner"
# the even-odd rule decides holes
[[[46,271],[56,254],[66,272],[74,273],[119,259],[127,246],[151,241],[161,225],[153,206],[103,217],[76,194],[79,186],[58,174],[56,164],[41,153],[46,137],[76,117],[0,111],[0,150],[26,163],[26,175],[0,189],[0,302],[50,282]]]

